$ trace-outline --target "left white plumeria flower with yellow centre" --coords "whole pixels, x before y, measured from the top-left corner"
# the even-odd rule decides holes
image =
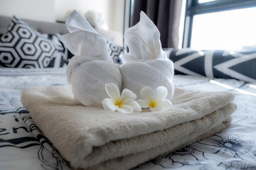
[[[116,84],[108,83],[105,85],[108,96],[102,101],[102,106],[107,111],[118,111],[120,113],[132,113],[133,111],[141,112],[142,108],[135,101],[137,95],[129,89],[124,89],[120,96]]]

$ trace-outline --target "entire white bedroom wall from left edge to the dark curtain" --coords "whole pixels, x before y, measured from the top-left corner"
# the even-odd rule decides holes
[[[73,9],[82,15],[89,10],[100,12],[109,30],[123,32],[124,0],[0,0],[0,15],[37,21],[64,22]]]

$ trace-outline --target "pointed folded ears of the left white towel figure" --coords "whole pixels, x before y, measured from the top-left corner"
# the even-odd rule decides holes
[[[97,57],[98,60],[112,61],[107,52],[107,42],[90,26],[77,11],[68,16],[66,26],[70,33],[60,36],[60,40],[74,55]]]

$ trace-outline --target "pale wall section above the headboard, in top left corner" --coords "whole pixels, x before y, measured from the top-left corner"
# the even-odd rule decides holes
[[[0,0],[0,15],[55,22],[53,0]]]

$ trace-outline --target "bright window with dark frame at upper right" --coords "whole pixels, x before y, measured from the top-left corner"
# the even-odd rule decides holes
[[[183,47],[256,50],[256,0],[187,0]]]

